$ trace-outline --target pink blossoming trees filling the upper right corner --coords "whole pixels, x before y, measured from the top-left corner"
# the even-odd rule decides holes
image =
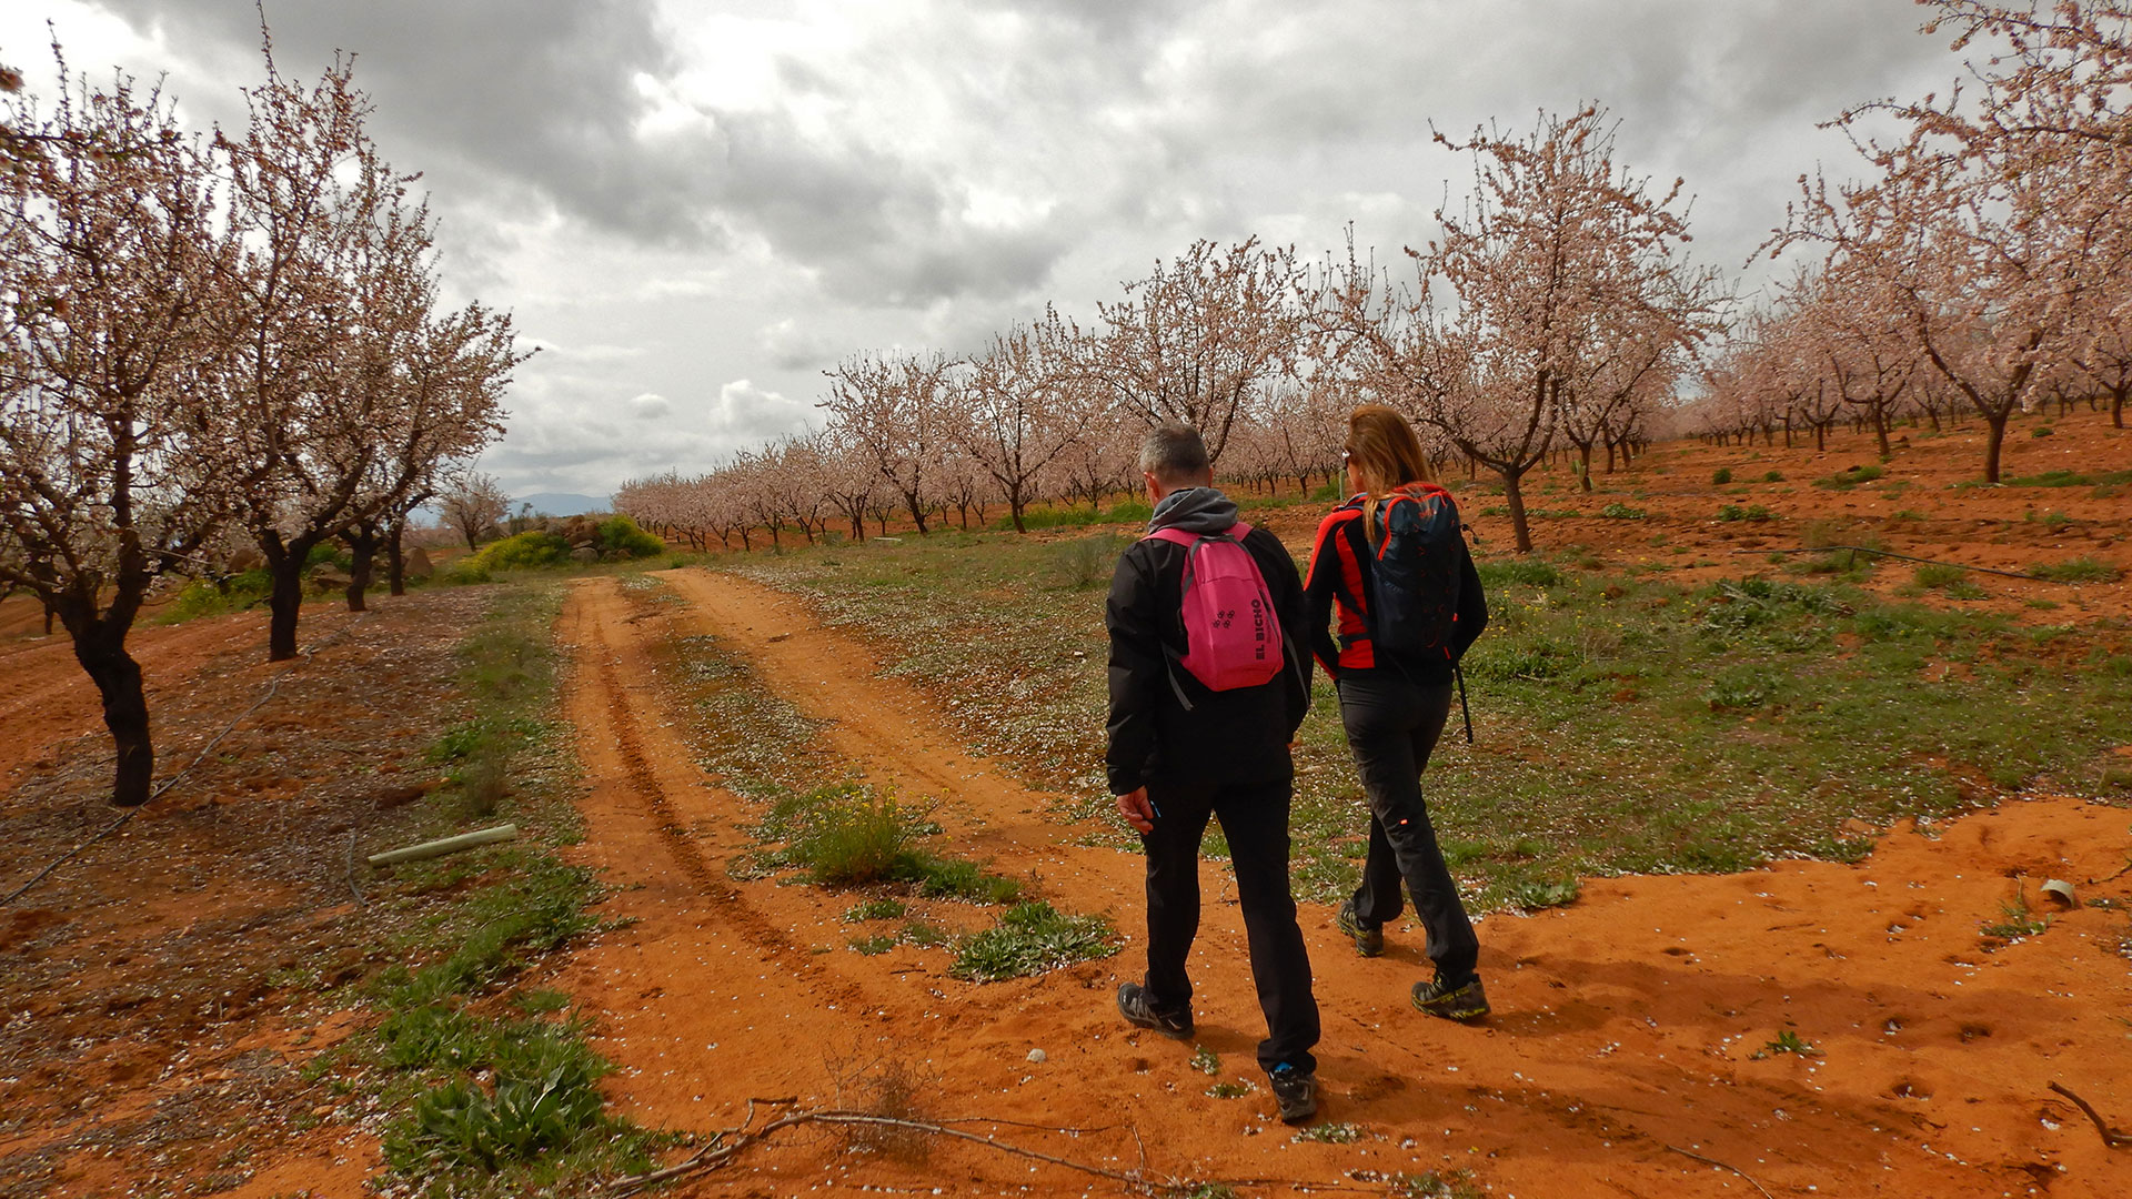
[[[2132,6],[1929,0],[1978,60],[1949,92],[1838,117],[1866,162],[1812,181],[1778,247],[1810,247],[1714,365],[1712,435],[1974,412],[1998,482],[2006,422],[2132,395]],[[1868,119],[1895,128],[1863,132]]]

